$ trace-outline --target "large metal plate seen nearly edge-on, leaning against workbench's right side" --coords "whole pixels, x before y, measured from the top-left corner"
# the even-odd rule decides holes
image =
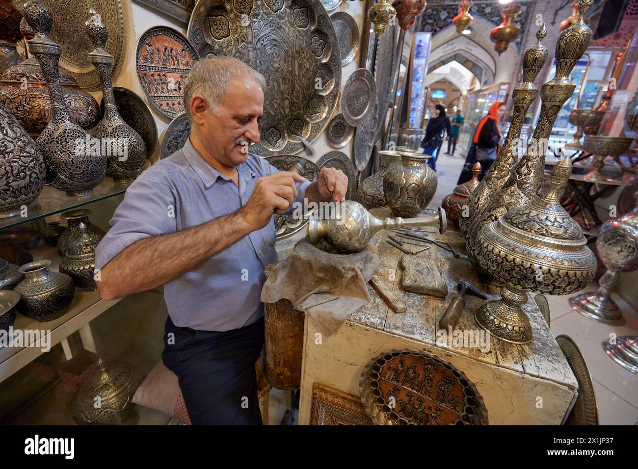
[[[591,382],[590,370],[582,357],[581,350],[570,336],[558,336],[556,343],[565,355],[567,364],[574,371],[578,382],[578,398],[565,425],[598,425],[598,405],[593,382]]]

